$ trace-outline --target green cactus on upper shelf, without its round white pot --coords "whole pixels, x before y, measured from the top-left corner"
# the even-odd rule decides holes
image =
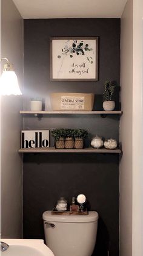
[[[113,101],[115,93],[115,85],[111,85],[111,81],[105,81],[105,89],[103,93],[103,101]]]

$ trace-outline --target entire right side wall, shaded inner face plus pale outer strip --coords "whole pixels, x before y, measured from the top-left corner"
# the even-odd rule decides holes
[[[142,0],[128,0],[121,18],[121,256],[143,255],[142,17]]]

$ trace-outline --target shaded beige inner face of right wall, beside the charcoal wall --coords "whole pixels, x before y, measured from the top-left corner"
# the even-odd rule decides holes
[[[133,168],[133,1],[127,1],[121,18],[122,159],[120,174],[120,255],[131,256]]]

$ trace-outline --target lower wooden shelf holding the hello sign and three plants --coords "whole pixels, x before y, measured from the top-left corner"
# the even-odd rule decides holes
[[[94,148],[84,148],[84,149],[55,149],[55,148],[28,148],[19,149],[19,153],[116,153],[120,154],[121,149],[94,149]]]

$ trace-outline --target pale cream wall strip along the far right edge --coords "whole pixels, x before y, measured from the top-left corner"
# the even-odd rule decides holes
[[[143,1],[133,1],[133,256],[143,255]]]

